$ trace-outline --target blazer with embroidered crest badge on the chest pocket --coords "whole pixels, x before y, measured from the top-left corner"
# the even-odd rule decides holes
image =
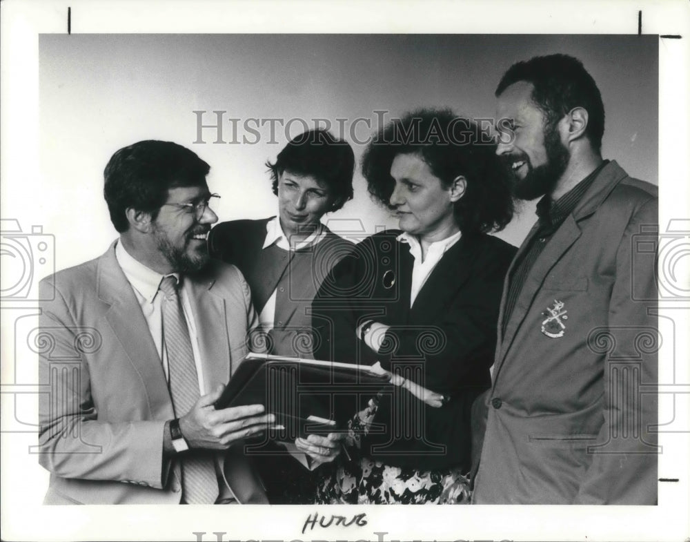
[[[534,262],[477,400],[476,503],[655,502],[656,191],[610,162]]]

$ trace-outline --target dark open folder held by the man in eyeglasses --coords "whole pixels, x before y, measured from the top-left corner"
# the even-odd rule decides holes
[[[215,407],[264,405],[284,427],[272,438],[293,441],[344,430],[362,404],[390,385],[390,374],[369,365],[251,353]]]

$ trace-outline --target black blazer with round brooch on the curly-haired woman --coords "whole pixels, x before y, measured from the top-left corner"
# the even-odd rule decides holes
[[[469,409],[491,382],[502,283],[515,247],[491,235],[462,235],[410,307],[414,258],[397,235],[365,239],[333,269],[313,302],[315,357],[368,365],[379,360],[450,396],[440,408],[400,388],[383,396],[375,418],[381,427],[365,442],[373,458],[419,469],[467,467]],[[369,319],[391,326],[379,354],[355,336]]]

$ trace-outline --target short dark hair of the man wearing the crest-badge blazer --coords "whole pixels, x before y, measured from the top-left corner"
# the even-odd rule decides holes
[[[532,101],[546,115],[551,125],[558,122],[570,110],[582,107],[587,110],[585,130],[592,147],[600,152],[604,136],[604,102],[597,84],[582,62],[569,55],[548,55],[513,64],[496,87],[500,96],[506,88],[518,81],[533,84]]]

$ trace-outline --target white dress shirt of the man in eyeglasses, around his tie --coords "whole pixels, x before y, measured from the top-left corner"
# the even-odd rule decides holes
[[[125,250],[121,242],[115,245],[115,258],[117,263],[125,274],[125,277],[132,285],[141,312],[144,313],[144,319],[148,324],[148,330],[151,332],[153,342],[156,345],[158,355],[163,363],[163,370],[166,374],[166,380],[170,381],[168,374],[168,352],[166,351],[166,343],[164,340],[163,331],[163,307],[161,300],[164,293],[158,293],[159,284],[164,276],[149,267],[146,267],[141,262],[132,258],[132,256]],[[179,280],[179,273],[170,273]],[[199,353],[199,342],[197,340],[197,327],[194,322],[192,307],[189,302],[189,294],[187,292],[186,282],[182,280],[182,287],[179,289],[180,299],[182,302],[182,311],[184,312],[184,319],[187,322],[189,330],[189,338],[192,342],[192,354],[194,356],[194,363],[197,367],[197,377],[199,378],[199,394],[206,395],[207,390],[204,389],[204,369],[201,367],[201,354]],[[209,390],[210,391],[210,390]]]

